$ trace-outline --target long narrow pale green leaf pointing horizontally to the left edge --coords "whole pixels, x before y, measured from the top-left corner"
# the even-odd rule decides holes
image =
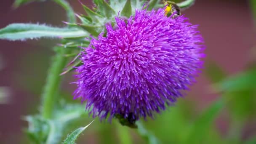
[[[88,36],[88,33],[74,28],[49,27],[44,24],[10,24],[0,29],[0,39],[26,40],[41,37],[79,37]]]

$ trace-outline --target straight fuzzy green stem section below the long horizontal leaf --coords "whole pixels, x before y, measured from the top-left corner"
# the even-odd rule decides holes
[[[47,119],[52,117],[53,108],[57,100],[57,92],[61,81],[60,73],[63,71],[68,60],[64,54],[69,53],[69,51],[70,49],[59,48],[58,53],[51,61],[51,67],[48,71],[46,84],[42,94],[42,115]]]

